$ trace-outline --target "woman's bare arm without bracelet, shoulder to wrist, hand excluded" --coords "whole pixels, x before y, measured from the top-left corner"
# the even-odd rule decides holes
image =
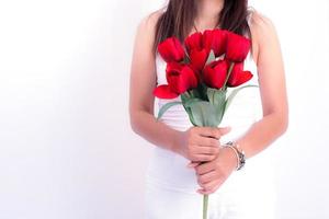
[[[163,123],[157,123],[154,117],[156,61],[152,43],[157,16],[158,14],[154,14],[145,18],[135,38],[129,89],[131,125],[133,130],[146,140],[175,151],[173,141],[179,135],[178,131]]]

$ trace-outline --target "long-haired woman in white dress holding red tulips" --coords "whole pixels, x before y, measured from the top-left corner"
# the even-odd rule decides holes
[[[211,194],[208,218],[273,217],[271,210],[265,210],[271,209],[272,203],[264,199],[269,196],[257,196],[258,188],[248,187],[253,184],[248,182],[258,177],[248,171],[253,168],[249,159],[287,129],[284,66],[272,22],[247,9],[247,0],[169,0],[163,10],[144,19],[138,27],[129,112],[133,130],[155,146],[147,172],[147,218],[202,218],[202,194]],[[157,122],[152,91],[157,83],[166,83],[166,64],[156,50],[157,45],[170,36],[183,41],[196,31],[214,27],[250,37],[251,53],[246,68],[254,65],[257,76],[250,83],[259,82],[259,90],[241,92],[218,128],[193,127],[181,105],[170,108]],[[164,103],[158,100],[158,106]],[[262,110],[260,117],[256,113],[258,106]],[[247,166],[250,163],[246,170],[235,171],[238,165],[235,151],[220,147],[228,140],[234,140],[245,152]],[[261,200],[257,203],[258,198]]]

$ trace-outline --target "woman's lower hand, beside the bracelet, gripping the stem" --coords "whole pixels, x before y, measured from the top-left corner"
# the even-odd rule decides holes
[[[211,194],[228,178],[237,166],[237,157],[232,149],[220,148],[218,155],[209,162],[195,166],[200,194]]]

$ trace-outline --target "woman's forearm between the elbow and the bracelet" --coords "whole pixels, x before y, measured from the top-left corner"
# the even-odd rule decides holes
[[[248,159],[270,146],[286,131],[287,126],[288,119],[285,114],[272,113],[254,123],[236,142],[239,143]]]

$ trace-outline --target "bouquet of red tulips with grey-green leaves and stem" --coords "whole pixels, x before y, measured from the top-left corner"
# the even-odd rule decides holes
[[[235,95],[243,88],[258,87],[239,87],[252,78],[243,70],[250,44],[250,39],[219,28],[196,32],[183,44],[175,37],[161,42],[158,51],[167,62],[168,84],[158,85],[154,94],[159,99],[180,96],[181,101],[164,104],[157,119],[171,106],[182,104],[194,126],[217,127]],[[236,89],[228,93],[228,88]],[[204,219],[207,201],[204,195]]]

